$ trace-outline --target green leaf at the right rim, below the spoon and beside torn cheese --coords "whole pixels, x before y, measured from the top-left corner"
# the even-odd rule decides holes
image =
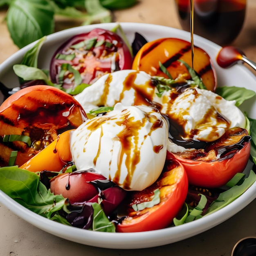
[[[256,92],[242,87],[223,86],[217,87],[216,93],[228,101],[236,101],[236,106],[240,106],[245,100],[251,99]]]

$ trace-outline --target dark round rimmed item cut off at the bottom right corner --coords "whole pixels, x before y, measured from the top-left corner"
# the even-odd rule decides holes
[[[239,240],[231,253],[231,256],[255,256],[256,236],[248,236]]]

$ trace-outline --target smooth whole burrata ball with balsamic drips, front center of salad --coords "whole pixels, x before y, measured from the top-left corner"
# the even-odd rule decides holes
[[[143,190],[162,172],[168,125],[156,108],[117,103],[106,115],[88,119],[71,137],[78,170],[93,168],[126,190]]]

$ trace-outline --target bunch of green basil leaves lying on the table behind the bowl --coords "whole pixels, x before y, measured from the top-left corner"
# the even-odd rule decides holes
[[[7,28],[19,48],[54,32],[55,16],[82,19],[81,25],[112,21],[110,9],[132,7],[137,0],[11,0]]]

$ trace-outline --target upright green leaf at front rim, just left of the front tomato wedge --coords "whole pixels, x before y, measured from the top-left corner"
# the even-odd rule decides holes
[[[115,225],[108,220],[100,204],[92,203],[93,222],[92,230],[103,232],[115,232]]]

